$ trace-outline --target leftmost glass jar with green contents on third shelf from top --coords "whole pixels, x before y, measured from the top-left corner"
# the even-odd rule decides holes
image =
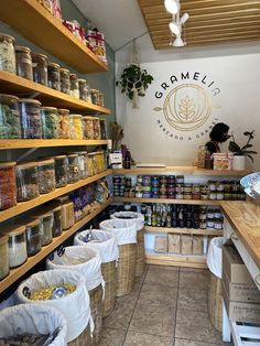
[[[18,100],[15,96],[0,94],[0,139],[21,138]]]

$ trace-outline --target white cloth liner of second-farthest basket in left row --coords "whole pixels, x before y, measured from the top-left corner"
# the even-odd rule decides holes
[[[137,242],[137,227],[133,220],[115,218],[101,221],[99,227],[112,233],[117,238],[118,245]]]

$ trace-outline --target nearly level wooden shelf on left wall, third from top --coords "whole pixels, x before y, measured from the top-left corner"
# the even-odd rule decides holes
[[[84,139],[0,139],[0,150],[47,148],[47,147],[84,147],[106,145],[108,140],[84,140]]]

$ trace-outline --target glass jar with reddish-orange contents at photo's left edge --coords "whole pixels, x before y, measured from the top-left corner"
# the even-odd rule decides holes
[[[0,210],[17,205],[15,162],[0,163]]]

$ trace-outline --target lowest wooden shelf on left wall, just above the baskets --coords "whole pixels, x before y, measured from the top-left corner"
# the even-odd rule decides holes
[[[0,281],[0,293],[2,293],[6,289],[8,289],[12,283],[14,283],[19,278],[21,278],[24,273],[26,273],[30,269],[32,269],[35,264],[37,264],[41,260],[43,260],[48,253],[55,250],[56,247],[62,245],[66,239],[68,239],[72,235],[74,235],[78,229],[80,229],[85,224],[90,221],[94,217],[96,217],[100,212],[102,212],[110,204],[110,199],[106,203],[99,205],[97,209],[85,216],[80,221],[76,223],[72,228],[63,231],[59,237],[53,238],[53,241],[43,247],[42,250],[33,257],[29,257],[26,262],[21,267],[10,270],[9,275]]]

